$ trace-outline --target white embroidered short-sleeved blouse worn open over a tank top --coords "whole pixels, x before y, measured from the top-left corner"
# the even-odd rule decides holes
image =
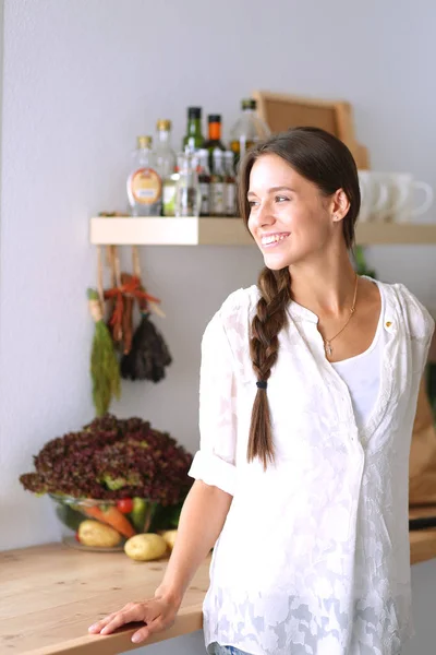
[[[218,642],[254,655],[397,655],[414,634],[409,451],[434,321],[404,286],[377,284],[387,342],[363,429],[317,317],[290,303],[268,381],[267,472],[246,462],[257,287],[231,294],[205,331],[190,474],[233,496],[204,600],[209,652]]]

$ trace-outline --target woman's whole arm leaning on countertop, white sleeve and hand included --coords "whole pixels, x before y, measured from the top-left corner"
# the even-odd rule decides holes
[[[231,305],[234,301],[231,300]],[[229,314],[234,322],[235,310]],[[214,547],[237,489],[237,384],[234,357],[220,312],[208,323],[202,341],[199,390],[201,449],[189,475],[195,483],[183,503],[178,536],[164,580],[154,598],[129,603],[89,628],[108,634],[132,621],[144,621],[132,641],[169,628],[199,564]]]

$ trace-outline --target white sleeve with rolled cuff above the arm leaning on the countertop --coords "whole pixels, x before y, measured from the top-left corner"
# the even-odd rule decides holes
[[[199,450],[189,475],[231,496],[237,483],[235,402],[233,355],[218,312],[202,340]]]

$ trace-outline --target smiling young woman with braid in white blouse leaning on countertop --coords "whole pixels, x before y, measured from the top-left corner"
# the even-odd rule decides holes
[[[298,128],[250,151],[240,205],[265,267],[202,344],[201,449],[155,597],[93,626],[174,620],[210,548],[214,655],[398,655],[410,612],[409,451],[434,322],[350,263],[348,148]]]

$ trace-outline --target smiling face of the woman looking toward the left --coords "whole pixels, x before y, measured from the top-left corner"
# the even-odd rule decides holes
[[[247,200],[249,229],[265,265],[275,271],[317,258],[339,227],[332,218],[331,199],[278,155],[256,159]]]

